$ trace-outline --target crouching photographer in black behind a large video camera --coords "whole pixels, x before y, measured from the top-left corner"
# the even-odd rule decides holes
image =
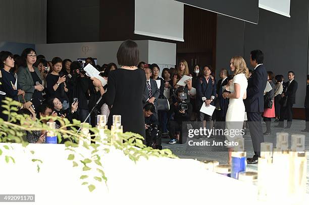
[[[169,131],[171,140],[168,144],[175,144],[179,141],[179,136],[182,132],[182,122],[190,121],[192,114],[192,105],[187,99],[187,95],[184,93],[183,88],[176,90],[177,102],[171,105],[171,112],[174,112],[174,120],[169,122]],[[180,134],[176,134],[180,132]]]

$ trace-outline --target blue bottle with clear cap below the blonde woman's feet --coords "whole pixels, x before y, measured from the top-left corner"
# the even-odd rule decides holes
[[[234,151],[231,160],[231,177],[238,179],[238,173],[246,171],[246,152],[244,151],[244,139],[235,139]],[[237,144],[236,144],[237,143]]]

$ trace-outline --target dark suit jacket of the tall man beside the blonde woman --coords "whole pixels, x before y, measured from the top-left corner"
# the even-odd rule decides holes
[[[267,84],[267,72],[264,64],[254,70],[248,79],[247,98],[244,100],[246,112],[264,112],[264,91]]]

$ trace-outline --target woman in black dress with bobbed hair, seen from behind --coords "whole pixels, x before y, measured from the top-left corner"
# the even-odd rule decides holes
[[[138,133],[145,138],[145,120],[142,96],[146,85],[145,72],[136,67],[139,50],[134,41],[124,41],[117,52],[118,64],[122,65],[109,74],[108,91],[101,82],[93,78],[93,85],[99,87],[102,99],[98,104],[113,105],[108,119],[108,127],[113,124],[113,115],[121,115],[123,131]]]

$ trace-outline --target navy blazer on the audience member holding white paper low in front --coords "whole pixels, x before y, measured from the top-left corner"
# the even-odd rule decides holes
[[[201,77],[199,78],[199,81],[197,83],[196,86],[196,105],[198,107],[198,109],[200,109],[200,107],[203,104],[202,101],[202,97],[207,98],[207,100],[211,99],[212,96],[213,99],[215,99],[216,97],[216,80],[214,80],[214,84],[213,84],[213,80],[211,78],[209,78],[209,81],[207,83],[205,77]],[[215,102],[211,102],[211,105],[215,105]]]

